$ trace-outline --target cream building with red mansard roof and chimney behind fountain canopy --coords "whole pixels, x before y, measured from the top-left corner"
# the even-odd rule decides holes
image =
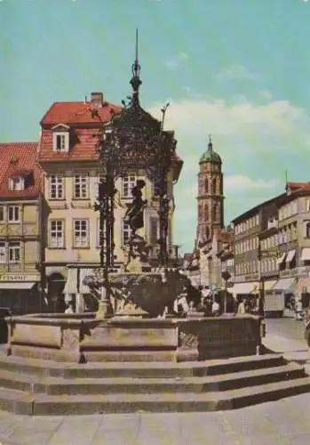
[[[44,198],[47,214],[44,239],[44,271],[49,300],[55,310],[62,302],[59,295],[76,299],[78,310],[91,303],[85,276],[99,267],[99,213],[94,211],[98,198],[100,167],[97,152],[103,123],[120,111],[104,100],[102,93],[91,93],[84,102],[57,102],[41,121],[38,162],[44,171]],[[178,180],[182,161],[173,159],[168,174],[171,198],[168,243],[172,244],[174,211],[173,184]],[[158,198],[146,172],[131,169],[115,182],[115,265],[126,262],[125,247],[131,231],[124,215],[131,203],[131,189],[144,179],[147,207],[144,227],[139,232],[150,246],[156,247],[159,235]],[[174,249],[175,250],[175,249]],[[170,252],[175,255],[174,252]],[[177,254],[178,255],[178,254]]]

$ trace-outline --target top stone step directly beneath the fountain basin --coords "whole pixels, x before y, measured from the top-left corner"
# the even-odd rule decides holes
[[[70,364],[52,360],[6,357],[0,354],[0,370],[28,376],[62,378],[173,378],[183,376],[216,376],[252,369],[274,368],[286,364],[281,354],[250,355],[231,359],[176,362],[101,362]]]

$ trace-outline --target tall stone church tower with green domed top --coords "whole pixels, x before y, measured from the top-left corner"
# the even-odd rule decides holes
[[[211,137],[199,160],[197,204],[197,242],[204,244],[224,228],[222,159],[213,150]]]

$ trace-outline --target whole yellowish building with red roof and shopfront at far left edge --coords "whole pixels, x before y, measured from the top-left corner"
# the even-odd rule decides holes
[[[0,144],[0,306],[44,310],[42,172],[36,142]]]

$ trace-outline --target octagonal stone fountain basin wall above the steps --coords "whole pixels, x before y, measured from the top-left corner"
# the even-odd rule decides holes
[[[195,319],[44,313],[8,317],[7,355],[68,363],[190,361],[256,354],[261,318]]]

